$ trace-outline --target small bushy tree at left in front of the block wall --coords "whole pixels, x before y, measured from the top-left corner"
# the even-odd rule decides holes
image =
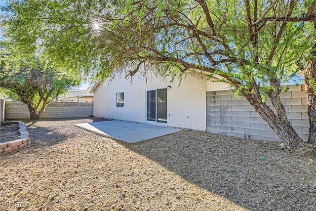
[[[14,72],[14,73],[12,73]],[[15,71],[0,70],[0,90],[27,105],[31,120],[40,119],[46,105],[77,82],[54,69],[24,67]]]

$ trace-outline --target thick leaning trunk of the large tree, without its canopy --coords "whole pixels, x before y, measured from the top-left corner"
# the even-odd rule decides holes
[[[255,108],[260,117],[276,132],[277,136],[285,144],[287,149],[294,149],[302,146],[303,140],[287,120],[284,106],[279,101],[279,98],[273,99],[279,101],[279,106],[274,105],[275,107],[278,107],[276,108],[278,110],[276,111],[277,114],[275,114],[266,103],[257,100],[254,94],[245,94],[244,96]],[[285,118],[282,117],[282,113],[285,114]]]

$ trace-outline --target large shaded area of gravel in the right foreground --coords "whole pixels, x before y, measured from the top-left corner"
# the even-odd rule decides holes
[[[314,158],[282,151],[276,143],[185,130],[118,142],[246,209],[316,210]]]

